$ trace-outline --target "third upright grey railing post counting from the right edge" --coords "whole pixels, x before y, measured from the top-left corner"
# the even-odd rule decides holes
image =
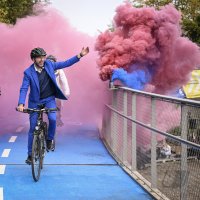
[[[136,120],[136,94],[132,94],[132,119]],[[132,170],[137,170],[137,148],[136,148],[136,123],[132,122]]]

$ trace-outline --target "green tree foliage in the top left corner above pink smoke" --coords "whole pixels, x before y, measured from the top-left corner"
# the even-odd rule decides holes
[[[47,4],[48,0],[0,0],[0,22],[15,24],[17,18],[27,15],[36,15],[34,5],[38,3]],[[41,10],[40,10],[41,11]]]

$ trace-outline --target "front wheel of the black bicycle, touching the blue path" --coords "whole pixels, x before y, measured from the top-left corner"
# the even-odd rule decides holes
[[[37,182],[41,171],[41,143],[38,135],[33,138],[31,167],[33,179]]]

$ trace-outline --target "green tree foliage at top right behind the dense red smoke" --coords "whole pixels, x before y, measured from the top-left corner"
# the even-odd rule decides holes
[[[156,9],[174,4],[182,13],[183,35],[200,44],[200,1],[199,0],[130,0],[135,7],[153,6]]]

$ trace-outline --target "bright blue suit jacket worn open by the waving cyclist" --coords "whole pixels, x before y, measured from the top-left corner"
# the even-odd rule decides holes
[[[63,99],[63,100],[67,99],[56,83],[56,77],[55,77],[54,71],[57,69],[69,67],[78,61],[79,61],[79,58],[77,56],[74,56],[64,62],[54,63],[54,62],[51,62],[50,60],[45,61],[44,68],[47,74],[49,75],[49,77],[51,78],[52,82],[54,83],[54,86],[56,89],[56,93],[55,93],[56,98]],[[25,104],[26,95],[27,95],[29,87],[30,87],[29,106],[31,106],[31,104],[39,103],[40,101],[40,86],[39,86],[37,72],[35,71],[35,68],[34,68],[34,64],[32,64],[28,69],[24,71],[24,78],[23,78],[22,86],[20,88],[18,104]]]

